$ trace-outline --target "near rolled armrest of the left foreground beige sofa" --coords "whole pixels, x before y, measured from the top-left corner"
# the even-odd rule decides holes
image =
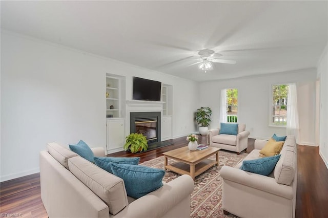
[[[182,200],[189,198],[194,190],[194,181],[188,175],[182,175],[159,189],[142,196],[115,215],[118,217],[161,217]],[[140,209],[142,208],[142,209]],[[190,204],[188,206],[188,216]]]

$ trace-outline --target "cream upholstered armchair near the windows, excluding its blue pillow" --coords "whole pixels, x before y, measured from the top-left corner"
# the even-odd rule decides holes
[[[237,152],[237,155],[239,155],[248,145],[248,136],[250,135],[250,132],[245,129],[246,124],[244,123],[238,124],[236,135],[219,134],[220,127],[210,129],[210,146],[235,151]]]

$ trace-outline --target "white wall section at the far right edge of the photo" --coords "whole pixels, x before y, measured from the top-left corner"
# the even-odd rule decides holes
[[[328,43],[318,62],[320,77],[320,145],[319,154],[328,168]]]

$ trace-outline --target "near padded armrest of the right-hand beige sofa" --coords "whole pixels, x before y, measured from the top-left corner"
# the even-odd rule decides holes
[[[274,178],[247,172],[238,168],[223,166],[220,171],[223,180],[229,180],[286,199],[293,199],[293,187],[276,183]]]

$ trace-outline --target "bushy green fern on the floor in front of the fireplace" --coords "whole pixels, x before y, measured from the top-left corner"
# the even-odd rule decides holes
[[[124,150],[129,150],[132,153],[146,151],[148,149],[148,143],[146,136],[141,133],[131,133],[126,138]]]

